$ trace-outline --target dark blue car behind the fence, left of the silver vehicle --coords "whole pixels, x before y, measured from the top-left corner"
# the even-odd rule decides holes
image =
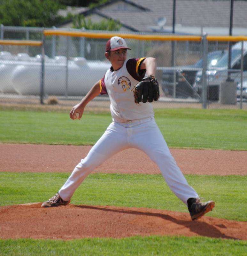
[[[214,51],[208,53],[209,67],[213,67],[217,64],[218,60],[226,51]],[[197,96],[197,93],[193,89],[192,85],[195,83],[195,77],[198,72],[198,68],[203,67],[203,59],[198,60],[195,64],[181,67],[178,70],[164,70],[162,73],[161,86],[166,96],[173,96],[174,90],[174,75],[176,76],[176,98],[188,98]]]

